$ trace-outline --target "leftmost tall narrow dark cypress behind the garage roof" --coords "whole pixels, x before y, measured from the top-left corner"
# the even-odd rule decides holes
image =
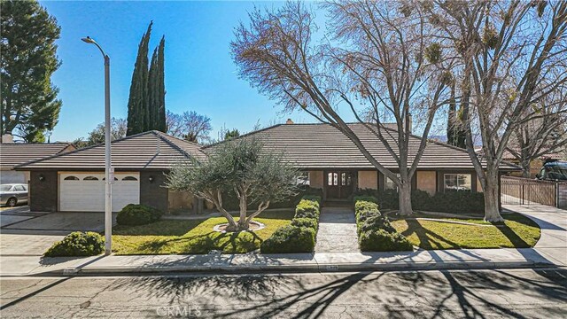
[[[134,64],[134,73],[130,84],[130,96],[128,98],[128,130],[127,136],[144,132],[145,113],[148,109],[148,45],[150,43],[151,25],[142,36],[138,45],[138,56]]]

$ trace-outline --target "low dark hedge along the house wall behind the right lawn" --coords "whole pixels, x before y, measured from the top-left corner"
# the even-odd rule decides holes
[[[399,209],[400,200],[395,190],[358,190],[355,198],[377,198],[382,209]],[[365,199],[368,200],[368,199]],[[427,191],[411,191],[411,205],[416,210],[452,214],[484,214],[485,195],[482,192],[447,191],[431,196]]]

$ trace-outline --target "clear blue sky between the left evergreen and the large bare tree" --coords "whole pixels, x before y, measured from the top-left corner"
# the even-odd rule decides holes
[[[237,78],[229,43],[234,27],[247,21],[247,12],[262,2],[54,2],[41,1],[58,19],[61,37],[58,57],[62,66],[51,78],[63,100],[51,141],[87,136],[104,121],[103,58],[97,48],[82,43],[89,35],[111,57],[113,117],[126,118],[128,92],[137,45],[151,20],[151,51],[166,35],[166,106],[182,113],[194,110],[219,129],[240,132],[260,125],[312,121],[307,114],[283,114],[273,101]],[[276,107],[275,107],[276,106]]]

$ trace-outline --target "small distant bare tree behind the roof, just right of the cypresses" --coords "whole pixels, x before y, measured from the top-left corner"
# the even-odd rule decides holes
[[[209,141],[209,133],[213,130],[211,119],[195,111],[181,114],[167,112],[166,125],[167,134],[184,138],[193,143]]]

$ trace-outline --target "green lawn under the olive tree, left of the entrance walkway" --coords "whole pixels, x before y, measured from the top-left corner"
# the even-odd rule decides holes
[[[293,212],[268,212],[254,221],[266,228],[258,231],[222,234],[213,230],[227,222],[224,217],[203,220],[162,220],[142,226],[117,226],[113,230],[116,254],[248,253],[260,248],[276,229],[288,225]]]

